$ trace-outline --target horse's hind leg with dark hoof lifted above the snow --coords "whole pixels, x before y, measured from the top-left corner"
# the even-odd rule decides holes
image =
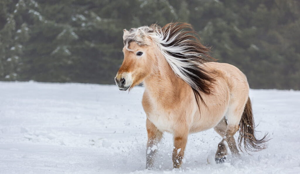
[[[218,149],[215,155],[216,163],[222,163],[226,159],[225,155],[227,155],[227,147],[224,144],[224,136],[226,135],[226,129],[227,129],[227,122],[224,117],[217,124],[217,126],[214,127],[214,130],[222,137],[222,141],[220,141],[220,143],[218,144]]]

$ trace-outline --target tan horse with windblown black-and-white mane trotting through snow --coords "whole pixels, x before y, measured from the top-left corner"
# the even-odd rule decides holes
[[[188,135],[210,128],[222,137],[216,163],[226,161],[227,146],[233,157],[241,156],[233,137],[238,130],[241,151],[242,146],[247,152],[266,148],[267,133],[261,139],[254,135],[246,76],[233,65],[217,63],[190,24],[152,24],[123,31],[124,60],[115,82],[119,90],[129,91],[144,84],[147,169],[154,167],[164,132],[174,137],[174,168],[181,167]]]

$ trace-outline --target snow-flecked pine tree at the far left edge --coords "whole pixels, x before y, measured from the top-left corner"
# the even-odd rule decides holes
[[[4,27],[0,30],[0,80],[16,80],[22,70],[24,44],[29,40],[29,28],[26,15],[30,8],[26,1],[17,3],[1,1],[1,18],[6,18]]]

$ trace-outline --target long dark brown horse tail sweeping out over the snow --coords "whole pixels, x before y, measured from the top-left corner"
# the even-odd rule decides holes
[[[263,150],[267,147],[265,143],[269,140],[268,133],[266,133],[265,136],[262,137],[261,139],[256,139],[254,135],[255,125],[254,125],[250,98],[248,98],[248,101],[244,108],[244,112],[241,121],[239,123],[239,126],[240,129],[238,135],[238,147],[240,148],[240,150],[241,150],[242,142],[244,142],[243,143],[244,149],[246,151],[256,152],[259,150]]]

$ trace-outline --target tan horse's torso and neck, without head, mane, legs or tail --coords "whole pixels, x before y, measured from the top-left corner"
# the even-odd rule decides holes
[[[163,63],[160,65],[163,68],[159,73],[145,80],[142,101],[147,118],[158,130],[174,133],[174,129],[181,131],[178,125],[186,124],[189,133],[196,133],[215,127],[224,116],[232,124],[239,123],[248,99],[249,85],[246,76],[236,67],[216,62],[202,65],[214,70],[216,76],[211,95],[202,94],[206,107],[204,104],[198,106],[188,84],[172,74],[170,68],[166,69]],[[230,113],[232,110],[237,110],[237,113]]]

